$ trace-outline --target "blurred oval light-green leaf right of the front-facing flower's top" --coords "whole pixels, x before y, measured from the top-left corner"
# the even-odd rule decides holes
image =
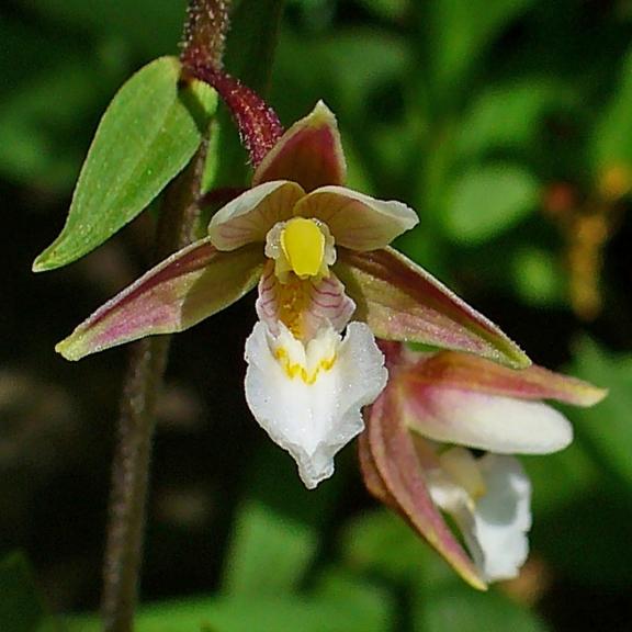
[[[497,237],[537,205],[538,181],[517,165],[485,165],[466,171],[453,185],[445,207],[445,230],[455,240],[479,244]]]

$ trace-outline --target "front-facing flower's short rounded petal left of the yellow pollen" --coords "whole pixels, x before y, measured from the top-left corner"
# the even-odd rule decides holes
[[[221,208],[208,224],[208,236],[217,250],[236,250],[246,244],[266,241],[276,222],[292,217],[296,202],[305,195],[295,182],[266,182],[249,189]]]

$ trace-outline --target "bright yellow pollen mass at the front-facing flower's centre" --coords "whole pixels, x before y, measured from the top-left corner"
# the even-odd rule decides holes
[[[325,235],[313,219],[294,217],[281,233],[281,247],[300,279],[316,276],[325,257]]]

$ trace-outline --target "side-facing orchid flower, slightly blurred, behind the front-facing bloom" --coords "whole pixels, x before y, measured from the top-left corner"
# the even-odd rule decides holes
[[[515,577],[528,554],[531,485],[512,454],[548,454],[571,443],[569,422],[543,399],[592,406],[606,391],[535,365],[514,371],[453,351],[381,348],[388,384],[360,437],[369,490],[472,586]]]

